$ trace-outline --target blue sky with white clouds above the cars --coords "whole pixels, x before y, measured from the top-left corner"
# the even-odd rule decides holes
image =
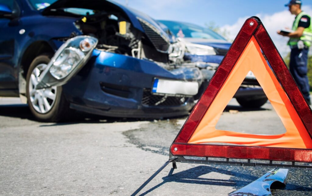
[[[260,17],[280,53],[285,56],[290,49],[288,38],[276,31],[292,26],[295,18],[284,5],[289,0],[113,0],[148,14],[154,19],[191,22],[205,26],[209,22],[229,32],[235,38],[244,21],[251,16]],[[303,0],[302,9],[312,16],[312,0]]]

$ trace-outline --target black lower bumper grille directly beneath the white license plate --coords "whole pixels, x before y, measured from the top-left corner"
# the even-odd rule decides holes
[[[142,104],[148,106],[179,106],[187,101],[185,97],[153,95],[150,88],[143,89]]]

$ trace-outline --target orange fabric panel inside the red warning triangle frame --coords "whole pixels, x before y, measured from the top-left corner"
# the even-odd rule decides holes
[[[285,126],[286,132],[278,135],[246,134],[217,130],[216,125],[227,103],[252,71]],[[267,64],[254,36],[248,42],[231,73],[222,85],[207,112],[198,124],[188,144],[222,142],[246,146],[280,148],[312,148],[312,140],[295,111],[290,99]]]

